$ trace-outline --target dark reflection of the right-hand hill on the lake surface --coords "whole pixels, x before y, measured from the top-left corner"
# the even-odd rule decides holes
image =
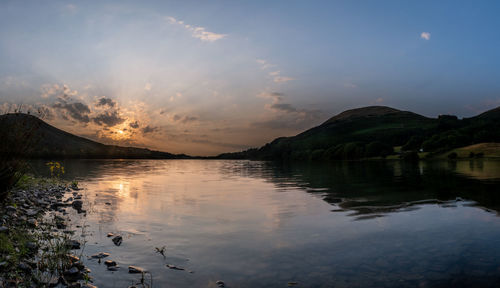
[[[284,164],[241,162],[232,171],[264,177],[277,187],[299,187],[338,205],[337,211],[353,211],[360,217],[417,209],[437,203],[444,207],[461,199],[500,211],[500,183],[467,178],[455,173],[456,164],[391,161]],[[244,163],[244,164],[243,164]],[[226,171],[228,172],[228,171]]]

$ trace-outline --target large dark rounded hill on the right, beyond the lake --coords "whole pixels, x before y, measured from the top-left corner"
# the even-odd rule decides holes
[[[395,154],[395,147],[442,153],[475,143],[500,142],[498,120],[500,108],[459,120],[451,115],[436,119],[391,107],[370,106],[344,111],[317,127],[293,137],[277,138],[261,148],[225,153],[218,158],[360,159]]]

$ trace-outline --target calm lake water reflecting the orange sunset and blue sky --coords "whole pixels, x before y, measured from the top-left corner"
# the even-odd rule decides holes
[[[109,252],[121,267],[86,260],[99,287],[140,281],[129,265],[153,287],[500,284],[500,162],[63,164],[88,205],[86,217],[68,209],[86,225],[73,227],[84,255]]]

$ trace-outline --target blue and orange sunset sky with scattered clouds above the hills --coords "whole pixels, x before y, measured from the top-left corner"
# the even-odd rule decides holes
[[[0,1],[0,113],[216,155],[347,109],[500,106],[498,1]]]

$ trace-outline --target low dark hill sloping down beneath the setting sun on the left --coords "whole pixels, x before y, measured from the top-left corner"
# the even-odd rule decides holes
[[[101,144],[22,113],[0,115],[0,139],[0,154],[28,158],[188,158],[143,148]]]

